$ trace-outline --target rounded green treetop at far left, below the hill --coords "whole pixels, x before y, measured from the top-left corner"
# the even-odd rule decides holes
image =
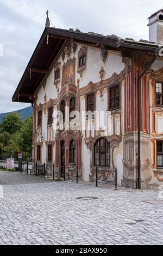
[[[14,134],[18,132],[22,127],[21,116],[17,112],[13,112],[3,117],[1,129],[3,132]]]

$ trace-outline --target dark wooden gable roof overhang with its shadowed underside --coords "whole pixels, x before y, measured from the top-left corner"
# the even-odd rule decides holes
[[[33,103],[35,91],[49,73],[55,57],[67,39],[94,46],[105,45],[110,49],[120,46],[120,38],[46,27],[16,88],[12,102]]]

